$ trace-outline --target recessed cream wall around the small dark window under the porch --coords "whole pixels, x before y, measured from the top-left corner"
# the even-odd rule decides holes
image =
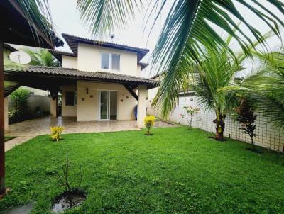
[[[66,91],[77,91],[76,86],[62,86],[62,117],[77,117],[77,105],[66,106],[65,105],[65,93]]]

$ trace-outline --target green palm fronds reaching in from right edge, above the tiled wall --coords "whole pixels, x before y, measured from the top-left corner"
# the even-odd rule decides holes
[[[269,53],[269,57],[261,52],[253,52],[253,56],[258,67],[232,90],[245,94],[268,122],[284,129],[284,52],[280,48],[280,51]]]

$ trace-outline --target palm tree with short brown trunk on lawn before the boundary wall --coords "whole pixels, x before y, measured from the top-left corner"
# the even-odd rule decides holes
[[[229,36],[224,40],[228,47],[231,38]],[[229,54],[227,48],[223,48],[221,51],[217,54],[214,48],[204,47],[202,50],[204,60],[190,69],[187,82],[190,84],[189,89],[195,91],[200,106],[204,106],[205,110],[214,111],[216,115],[216,120],[213,121],[216,124],[214,138],[223,141],[226,116],[239,106],[239,98],[233,91],[220,89],[235,86],[236,72],[242,69],[241,63],[246,60],[246,55],[244,53],[234,54],[237,56],[236,60]],[[163,111],[165,110],[163,108],[165,101],[162,102],[162,105],[160,104],[161,90],[162,88],[158,90],[153,103]]]

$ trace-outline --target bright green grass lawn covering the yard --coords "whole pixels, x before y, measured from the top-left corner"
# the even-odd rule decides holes
[[[48,135],[6,152],[6,185],[0,210],[35,203],[48,213],[62,192],[56,171],[68,150],[82,164],[86,201],[68,213],[284,213],[283,155],[187,128]]]

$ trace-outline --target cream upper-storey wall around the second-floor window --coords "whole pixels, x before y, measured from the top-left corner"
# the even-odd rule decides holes
[[[120,70],[101,68],[101,52],[120,55]],[[111,72],[116,74],[137,75],[137,54],[124,50],[117,50],[94,45],[78,44],[77,69],[88,72]]]

